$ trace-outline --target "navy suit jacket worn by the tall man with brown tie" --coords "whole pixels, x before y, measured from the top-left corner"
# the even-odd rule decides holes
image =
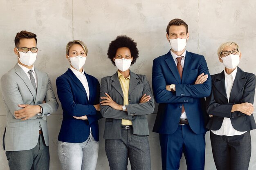
[[[196,134],[207,131],[209,115],[205,111],[204,97],[210,95],[211,77],[203,84],[195,84],[201,73],[209,74],[204,56],[186,51],[182,80],[171,52],[153,61],[152,85],[155,101],[159,103],[153,132],[172,134],[180,121],[184,105],[189,126]],[[175,84],[176,92],[166,90],[166,85]]]

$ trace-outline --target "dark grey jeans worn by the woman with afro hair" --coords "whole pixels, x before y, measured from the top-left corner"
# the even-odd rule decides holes
[[[105,150],[110,170],[127,170],[128,158],[132,170],[150,170],[148,137],[132,129],[122,129],[122,139],[106,139]]]

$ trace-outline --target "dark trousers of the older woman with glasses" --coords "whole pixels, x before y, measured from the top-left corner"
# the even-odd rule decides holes
[[[243,135],[219,136],[210,133],[217,170],[248,170],[252,152],[250,131]]]

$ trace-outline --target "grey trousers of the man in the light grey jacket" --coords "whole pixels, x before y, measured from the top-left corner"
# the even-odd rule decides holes
[[[43,134],[39,135],[35,148],[5,152],[10,170],[49,170],[49,146],[45,145]]]

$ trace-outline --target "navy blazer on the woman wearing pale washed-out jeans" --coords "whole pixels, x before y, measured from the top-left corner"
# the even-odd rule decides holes
[[[84,72],[89,85],[88,99],[85,88],[74,73],[68,69],[56,79],[58,98],[63,110],[63,120],[58,140],[70,143],[81,143],[88,139],[90,127],[92,135],[99,141],[98,119],[101,115],[93,105],[99,104],[99,81]],[[75,119],[73,116],[87,115],[88,120]]]

